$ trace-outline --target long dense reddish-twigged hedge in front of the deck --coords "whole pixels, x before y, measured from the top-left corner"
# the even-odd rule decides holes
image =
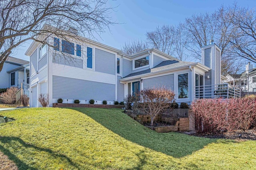
[[[198,133],[250,129],[256,126],[255,98],[200,99],[192,102]]]

